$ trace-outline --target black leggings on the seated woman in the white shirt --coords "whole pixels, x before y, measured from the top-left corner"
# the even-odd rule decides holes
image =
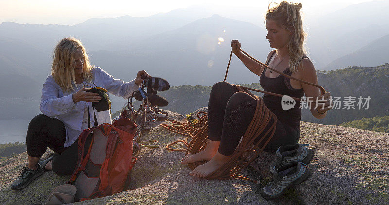
[[[58,175],[71,174],[77,164],[78,139],[70,147],[64,147],[65,139],[65,125],[60,120],[43,114],[37,115],[28,125],[27,154],[40,158],[49,147],[60,153],[53,158],[53,171]]]

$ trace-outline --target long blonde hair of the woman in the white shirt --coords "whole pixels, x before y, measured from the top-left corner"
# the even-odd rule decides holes
[[[64,92],[69,92],[71,90],[75,91],[71,83],[74,82],[74,84],[76,84],[74,75],[74,53],[77,50],[81,50],[84,54],[84,65],[82,73],[84,79],[91,81],[93,78],[89,58],[84,46],[79,40],[75,38],[64,38],[57,44],[54,49],[52,63],[52,76],[55,82]]]

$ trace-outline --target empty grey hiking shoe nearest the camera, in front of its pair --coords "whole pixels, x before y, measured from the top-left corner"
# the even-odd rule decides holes
[[[283,194],[292,185],[300,184],[311,175],[309,168],[301,162],[278,165],[274,169],[273,180],[261,189],[261,196],[265,199],[274,199]]]

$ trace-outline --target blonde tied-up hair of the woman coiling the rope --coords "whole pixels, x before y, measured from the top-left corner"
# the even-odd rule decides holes
[[[289,69],[296,73],[297,67],[304,55],[304,37],[306,36],[302,28],[300,16],[301,3],[288,3],[282,1],[280,4],[270,8],[271,2],[266,13],[265,20],[274,20],[281,28],[292,32],[291,39],[287,44],[289,52]]]

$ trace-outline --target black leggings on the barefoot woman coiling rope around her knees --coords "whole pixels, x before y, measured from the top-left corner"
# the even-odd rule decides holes
[[[238,92],[231,84],[219,82],[213,85],[208,102],[208,139],[220,141],[219,153],[230,156],[238,146],[241,137],[245,134],[257,106],[255,98],[246,92]],[[266,106],[263,109],[268,109]],[[254,143],[263,137],[270,129],[274,119],[265,127]],[[299,130],[295,131],[289,125],[277,120],[276,131],[266,145],[266,152],[275,152],[281,145],[293,145],[299,141]],[[263,145],[269,132],[260,144]]]

